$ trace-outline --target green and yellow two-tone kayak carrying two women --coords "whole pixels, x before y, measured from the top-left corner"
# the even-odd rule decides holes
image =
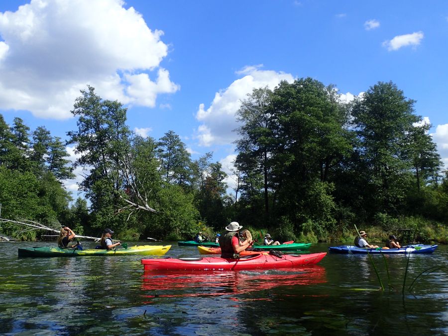
[[[24,247],[18,249],[19,257],[78,257],[86,255],[164,255],[171,245],[141,245],[128,248],[73,249],[50,246]]]

